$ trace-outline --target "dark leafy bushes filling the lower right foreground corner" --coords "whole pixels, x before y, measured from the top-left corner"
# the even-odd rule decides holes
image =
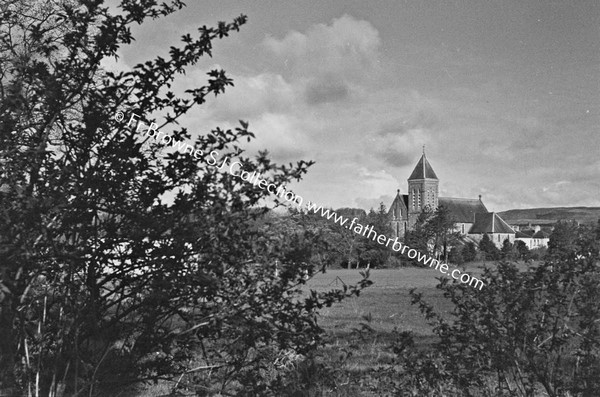
[[[405,386],[419,395],[599,395],[600,227],[569,230],[530,271],[485,269],[481,291],[442,279],[450,320],[412,291],[440,341],[427,353],[407,348],[410,336],[396,343]]]

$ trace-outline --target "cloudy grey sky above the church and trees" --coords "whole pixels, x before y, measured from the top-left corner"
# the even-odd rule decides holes
[[[193,134],[250,123],[250,153],[314,160],[293,184],[333,208],[390,206],[421,157],[440,196],[490,211],[600,206],[600,2],[194,1],[132,30],[109,68],[168,54],[185,33],[248,16],[175,88],[223,68]]]

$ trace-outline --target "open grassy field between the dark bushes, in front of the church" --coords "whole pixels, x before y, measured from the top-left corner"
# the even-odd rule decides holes
[[[466,270],[477,276],[481,274],[481,265],[482,263],[470,263]],[[524,264],[522,267],[527,268]],[[327,291],[342,288],[343,284],[356,284],[362,278],[360,272],[363,270],[328,270],[310,279],[305,290]],[[438,313],[447,313],[449,316],[452,304],[435,288],[440,277],[445,276],[430,268],[371,269],[369,278],[373,285],[359,297],[321,309],[319,324],[327,332],[327,343],[317,354],[322,362],[330,366],[333,364],[340,373],[351,376],[353,382],[348,380],[347,383],[354,384],[352,390],[341,389],[331,395],[379,395],[362,388],[357,390],[355,380],[361,379],[370,369],[390,364],[393,358],[390,344],[394,329],[412,331],[417,346],[422,348],[435,341],[431,327],[418,308],[411,304],[409,290],[416,288]],[[370,320],[367,321],[366,317]],[[367,324],[368,330],[365,331],[362,324]],[[363,331],[358,332],[361,329]],[[315,376],[318,378],[319,375]],[[142,395],[163,396],[168,390],[166,384],[155,385],[144,390]]]

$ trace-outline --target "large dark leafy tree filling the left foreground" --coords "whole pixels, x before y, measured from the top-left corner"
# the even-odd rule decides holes
[[[212,70],[201,87],[171,89],[245,16],[183,35],[166,58],[102,70],[132,43],[132,26],[183,6],[122,0],[113,14],[102,1],[0,5],[2,392],[114,395],[190,374],[215,393],[262,393],[276,387],[261,375],[269,354],[313,349],[315,310],[368,284],[300,298],[318,236],[257,228],[267,193],[207,159],[237,158],[275,185],[311,163],[246,157],[241,145],[254,135],[245,122],[206,131],[191,142],[194,155],[141,134],[190,140],[181,117],[233,84]],[[127,128],[134,113],[141,131]]]

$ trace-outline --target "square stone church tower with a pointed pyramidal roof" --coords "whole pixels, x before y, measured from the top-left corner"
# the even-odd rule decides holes
[[[423,208],[429,206],[436,209],[438,206],[439,180],[433,168],[423,155],[408,178],[408,224],[412,228]]]

